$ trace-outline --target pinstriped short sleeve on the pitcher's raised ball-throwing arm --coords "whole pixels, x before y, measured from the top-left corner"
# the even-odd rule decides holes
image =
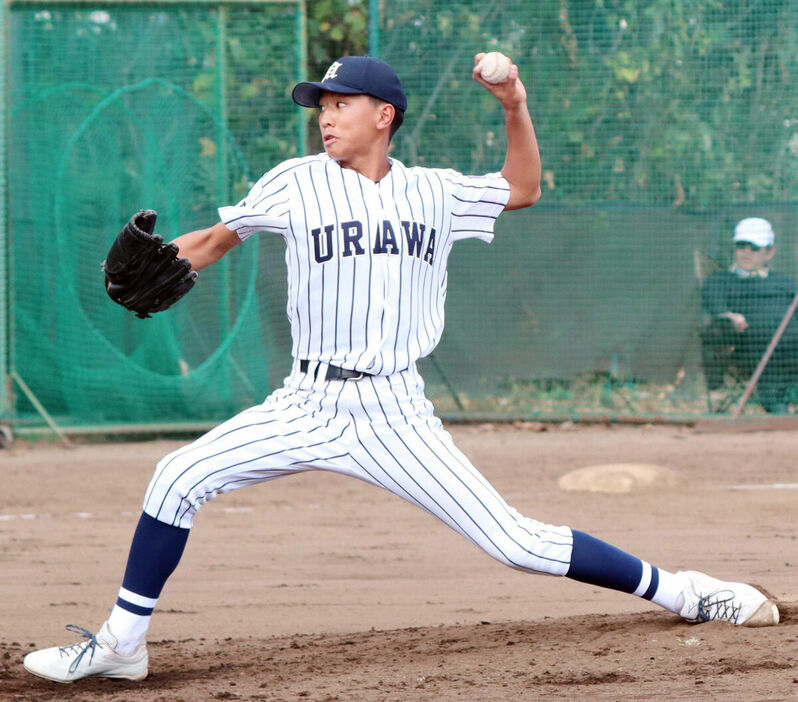
[[[493,241],[496,219],[510,200],[510,184],[501,173],[480,176],[443,171],[452,197],[452,238]]]

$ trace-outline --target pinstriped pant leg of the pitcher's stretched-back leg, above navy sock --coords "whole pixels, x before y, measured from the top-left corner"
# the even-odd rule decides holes
[[[565,575],[571,559],[568,527],[524,517],[501,497],[455,446],[419,397],[397,379],[358,383],[353,458],[364,473],[463,534],[513,568]],[[388,387],[393,384],[393,387]],[[413,406],[415,405],[415,406]]]

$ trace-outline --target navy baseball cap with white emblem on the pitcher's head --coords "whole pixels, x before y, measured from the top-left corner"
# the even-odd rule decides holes
[[[344,95],[372,95],[401,112],[407,109],[407,97],[396,71],[373,56],[343,56],[332,62],[320,81],[297,83],[291,97],[302,107],[318,107],[322,90]]]

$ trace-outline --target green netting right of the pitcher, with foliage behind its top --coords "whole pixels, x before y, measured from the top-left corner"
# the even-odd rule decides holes
[[[439,407],[709,411],[700,290],[732,263],[736,221],[768,218],[772,268],[798,273],[798,5],[405,0],[381,27],[372,45],[408,92],[398,158],[501,168],[502,111],[470,78],[474,53],[499,50],[519,65],[543,159],[541,202],[503,215],[490,247],[455,248],[425,364]],[[753,370],[727,378],[725,408]]]

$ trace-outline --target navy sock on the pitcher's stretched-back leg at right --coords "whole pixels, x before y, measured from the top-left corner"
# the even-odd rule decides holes
[[[567,577],[621,592],[638,589],[643,577],[643,562],[639,558],[582,531],[572,531],[574,546]],[[653,587],[647,588],[645,595],[649,594],[649,589],[656,591],[656,578],[656,568],[652,568]]]

